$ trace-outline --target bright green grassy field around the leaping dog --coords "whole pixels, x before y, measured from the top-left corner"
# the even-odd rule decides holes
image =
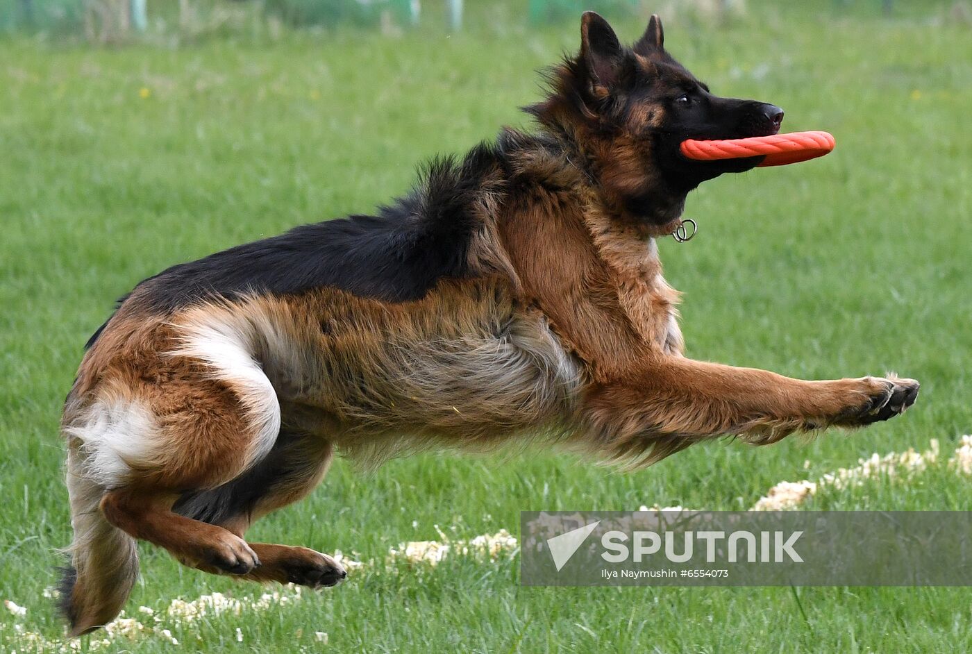
[[[179,646],[145,634],[84,647],[972,649],[965,589],[522,588],[515,553],[381,563],[399,543],[441,539],[439,529],[515,534],[521,510],[745,509],[781,480],[932,438],[951,453],[972,431],[972,32],[801,11],[753,11],[719,29],[667,25],[670,49],[715,92],[772,101],[786,129],[838,141],[824,159],[724,177],[690,196],[699,235],[661,244],[686,295],[688,354],[812,378],[894,369],[922,383],[913,411],[813,442],[714,442],[627,475],[548,453],[423,456],[370,475],[338,462],[311,499],[251,534],[372,565],[320,594],[283,589],[290,601],[260,608],[249,606],[259,587],[143,547],[127,613]],[[634,38],[642,25],[618,27]],[[113,300],[174,262],[369,211],[405,190],[422,159],[526,124],[516,107],[538,96],[533,71],[573,49],[576,31],[306,34],[179,50],[0,42],[0,600],[26,608],[0,608],[0,651],[59,646],[44,593],[55,548],[70,538],[56,425],[82,345]],[[969,477],[933,465],[805,506],[967,509],[970,499]],[[197,620],[166,613],[173,599],[213,592],[245,605]]]

